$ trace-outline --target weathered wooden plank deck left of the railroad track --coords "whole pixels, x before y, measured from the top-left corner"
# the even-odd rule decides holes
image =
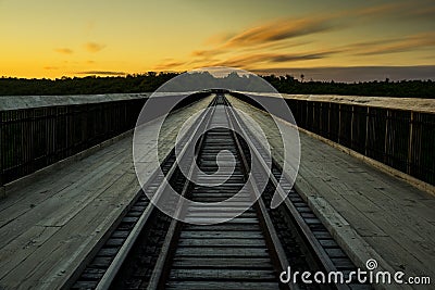
[[[183,121],[210,101],[171,115],[159,151],[169,153]],[[153,154],[157,142],[148,143]],[[60,288],[139,188],[129,135],[9,192],[0,200],[0,289]]]

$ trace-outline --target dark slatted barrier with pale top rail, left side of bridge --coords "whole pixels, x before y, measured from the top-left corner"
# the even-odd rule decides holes
[[[0,97],[0,186],[133,129],[148,96]],[[204,96],[191,94],[174,110]],[[161,97],[162,106],[179,97]]]

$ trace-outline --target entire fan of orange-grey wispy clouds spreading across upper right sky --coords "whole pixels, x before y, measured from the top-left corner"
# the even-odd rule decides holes
[[[366,41],[353,43],[325,45],[324,36],[330,33],[377,20],[391,21],[399,16],[410,20],[418,14],[426,15],[427,12],[409,2],[394,2],[298,18],[274,20],[239,31],[215,34],[204,41],[204,47],[190,52],[189,61],[171,60],[159,64],[156,70],[176,70],[181,66],[274,67],[281,63],[287,65],[336,55],[362,56],[432,48],[435,42],[433,33],[405,39],[369,38]],[[380,38],[377,35],[376,37]]]

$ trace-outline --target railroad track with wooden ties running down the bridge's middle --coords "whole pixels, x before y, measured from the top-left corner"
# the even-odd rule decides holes
[[[345,274],[356,267],[286,181],[286,176],[278,185],[283,173],[277,163],[273,162],[272,174],[265,175],[269,180],[262,180],[268,184],[264,192],[248,179],[253,161],[269,171],[264,164],[265,151],[240,116],[228,110],[229,105],[224,94],[219,93],[210,104],[211,110],[202,113],[201,122],[182,140],[187,146],[197,131],[214,125],[199,138],[196,159],[187,162],[196,160],[199,168],[210,175],[217,169],[222,175],[231,175],[223,185],[207,187],[191,182],[195,171],[190,169],[186,178],[175,162],[174,150],[161,166],[169,184],[181,196],[210,203],[184,206],[178,200],[165,201],[194,224],[171,219],[139,191],[67,286],[72,289],[370,289],[352,282],[279,282],[279,274],[288,266],[299,272]],[[232,154],[221,155],[217,167],[216,157],[222,150]],[[261,176],[264,175],[256,178]],[[209,177],[200,178],[199,184],[207,184]],[[153,197],[163,194],[167,190],[163,179],[163,175],[156,173],[144,190]],[[247,190],[239,192],[246,184]],[[271,210],[275,189],[289,194],[282,205]],[[213,205],[236,193],[224,206]],[[261,193],[251,205],[252,199]],[[209,225],[240,209],[248,210],[228,222]]]

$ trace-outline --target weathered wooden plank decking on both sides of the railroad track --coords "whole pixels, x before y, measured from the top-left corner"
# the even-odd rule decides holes
[[[169,119],[162,133],[166,151],[179,118],[208,101]],[[257,109],[233,102],[271,127]],[[386,269],[435,277],[435,197],[318,139],[300,138],[300,193],[352,259],[362,264],[373,257]],[[0,288],[52,289],[69,278],[139,189],[130,151],[127,137],[0,201]]]

